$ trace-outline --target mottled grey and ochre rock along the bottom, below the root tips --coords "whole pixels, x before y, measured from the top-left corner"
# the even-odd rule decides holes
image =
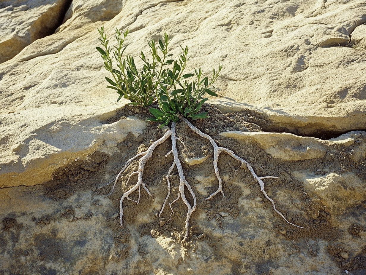
[[[164,200],[162,191],[155,193],[159,200]],[[0,271],[224,275],[237,274],[233,270],[239,270],[238,274],[254,275],[258,266],[275,275],[289,272],[336,274],[339,271],[326,253],[328,242],[317,240],[317,257],[299,252],[292,240],[273,228],[275,217],[271,211],[264,209],[262,202],[245,195],[238,201],[238,218],[222,213],[221,226],[216,219],[207,221],[203,209],[197,211],[195,225],[209,237],[201,237],[197,242],[194,239],[193,247],[186,247],[176,240],[181,230],[174,230],[173,226],[171,235],[156,237],[153,237],[158,234],[155,230],[141,234],[143,226],[126,223],[124,229],[116,227],[112,218],[116,209],[111,200],[90,190],[54,201],[45,196],[42,188],[22,186],[0,190],[0,200],[4,202],[0,208],[1,217],[11,217],[15,222],[14,226],[0,231]],[[284,203],[291,207],[290,203]],[[80,218],[73,218],[64,213],[70,207],[92,215],[86,218],[76,214]],[[158,211],[154,210],[154,213]],[[150,218],[146,226],[152,227],[156,220],[154,213],[150,213],[147,207],[141,209],[140,215]],[[51,217],[51,222],[37,224],[46,215]],[[164,226],[158,225],[159,228]],[[121,230],[117,237],[116,230]],[[362,240],[355,241],[362,243]],[[16,253],[21,256],[16,257]]]

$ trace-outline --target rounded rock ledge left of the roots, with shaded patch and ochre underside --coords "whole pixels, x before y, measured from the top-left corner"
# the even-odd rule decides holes
[[[20,122],[14,121],[7,131],[17,131],[22,125],[27,125],[30,133],[23,131],[11,137],[5,131],[3,140],[11,142],[12,147],[10,151],[0,152],[0,186],[31,186],[50,180],[57,168],[71,163],[75,158],[84,159],[95,150],[110,154],[117,142],[123,141],[128,133],[138,137],[146,125],[134,117],[112,124],[101,123],[102,118],[103,115],[72,122],[50,117],[45,121],[48,120],[51,127],[42,129],[32,124],[32,116]],[[6,146],[5,143],[0,148]]]

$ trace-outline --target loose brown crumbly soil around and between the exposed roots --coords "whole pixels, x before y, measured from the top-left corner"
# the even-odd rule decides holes
[[[354,164],[348,157],[349,154],[340,156],[326,154],[322,159],[304,160],[304,161],[292,161],[283,162],[279,159],[272,158],[258,145],[248,143],[247,146],[238,144],[238,141],[229,138],[223,138],[219,134],[227,130],[240,130],[240,131],[262,131],[269,123],[264,118],[258,117],[253,111],[244,110],[241,113],[228,113],[223,114],[214,106],[205,105],[204,110],[210,111],[210,118],[204,120],[195,121],[194,124],[203,132],[211,135],[214,140],[218,142],[220,146],[234,150],[238,156],[243,157],[249,163],[252,164],[258,176],[275,175],[280,179],[271,179],[266,181],[266,190],[269,196],[276,198],[278,191],[291,194],[295,194],[296,199],[300,200],[301,208],[305,214],[300,214],[298,211],[288,209],[281,202],[276,201],[277,208],[288,218],[289,221],[294,224],[306,226],[305,229],[295,228],[294,226],[286,224],[272,209],[272,205],[265,198],[262,200],[263,208],[272,211],[275,217],[275,230],[279,236],[284,236],[288,240],[293,240],[293,245],[296,249],[307,250],[313,256],[317,255],[316,245],[309,244],[309,241],[321,239],[328,241],[332,245],[329,245],[328,252],[337,263],[340,268],[346,268],[348,271],[366,270],[366,253],[363,249],[359,255],[352,255],[348,259],[340,259],[339,255],[343,250],[341,249],[341,243],[345,234],[350,234],[353,237],[359,236],[360,232],[365,232],[365,228],[361,225],[354,224],[348,228],[348,231],[342,231],[337,224],[332,222],[331,215],[324,210],[323,205],[320,202],[312,202],[310,196],[308,196],[302,187],[302,183],[298,182],[291,175],[291,171],[310,171],[315,175],[321,175],[326,171],[333,171],[337,173],[345,173],[353,171],[357,175],[366,179],[366,167],[360,167]],[[104,123],[113,123],[119,119],[126,118],[128,116],[137,116],[141,119],[150,117],[147,110],[136,107],[125,107],[117,112],[115,117],[109,118]],[[155,123],[150,123],[145,129],[145,132],[141,137],[135,138],[133,135],[128,135],[126,140],[118,144],[117,148],[120,153],[115,153],[112,156],[108,156],[102,152],[95,152],[90,156],[88,161],[77,160],[71,165],[58,169],[54,175],[53,180],[43,184],[44,194],[52,200],[59,201],[73,195],[79,190],[92,190],[97,194],[108,194],[111,185],[98,189],[103,183],[113,180],[117,175],[124,163],[134,156],[136,153],[145,150],[153,141],[161,137],[163,129],[159,129]],[[238,199],[242,196],[242,189],[233,182],[242,182],[249,187],[252,191],[248,198],[255,199],[256,197],[263,197],[259,190],[258,183],[253,179],[250,173],[246,169],[241,169],[236,161],[233,161],[229,156],[222,154],[219,159],[219,171],[221,175],[227,175],[229,180],[224,180],[224,192],[225,199],[219,194],[212,200],[206,201],[205,196],[199,194],[195,185],[199,182],[195,179],[197,172],[202,171],[205,175],[209,176],[213,174],[212,168],[212,148],[208,141],[202,139],[192,131],[190,131],[184,123],[179,123],[177,126],[177,135],[180,138],[178,141],[178,149],[180,152],[190,153],[194,156],[209,155],[208,160],[202,164],[188,166],[183,165],[186,173],[186,179],[191,183],[195,194],[197,195],[198,205],[197,211],[193,213],[190,220],[190,231],[188,236],[187,248],[194,249],[197,246],[198,241],[204,239],[212,241],[212,243],[219,243],[220,240],[214,236],[210,236],[208,232],[204,232],[198,226],[195,225],[195,219],[198,214],[205,213],[208,221],[216,219],[219,226],[224,226],[221,223],[223,216],[220,212],[228,213],[232,218],[238,217],[239,207]],[[338,146],[340,151],[345,151],[342,146]],[[164,155],[171,149],[171,141],[166,141],[159,145],[154,151],[153,157],[148,161],[145,172],[144,181],[147,187],[154,186],[158,190],[156,198],[149,198],[145,191],[142,191],[141,201],[139,205],[135,205],[134,202],[124,202],[124,223],[134,224],[138,213],[144,213],[146,209],[152,207],[154,199],[164,200],[167,194],[167,182],[165,176],[169,167],[171,166],[172,156],[169,156],[165,161]],[[126,186],[127,176],[135,171],[137,167],[137,161],[131,164],[131,166],[124,172],[115,192],[111,195],[110,199],[113,202],[114,209],[112,212],[118,213],[119,211],[119,199],[124,191],[127,191],[135,183],[136,177],[131,177],[130,183]],[[108,177],[106,179],[106,176]],[[121,185],[121,183],[123,183]],[[169,202],[175,199],[179,178],[176,175],[176,171],[171,176],[172,194]],[[208,193],[212,193],[216,190],[217,186],[209,187]],[[132,199],[137,198],[137,194],[131,195]],[[192,198],[187,194],[188,200],[192,203]],[[98,203],[95,201],[94,203]],[[360,207],[360,206],[357,206]],[[186,218],[186,207],[181,200],[178,200],[173,205],[174,215],[169,220],[170,209],[166,206],[161,218],[156,217],[153,222],[139,225],[137,231],[141,236],[145,234],[151,234],[153,237],[157,236],[173,236],[178,241],[182,240],[182,231],[184,229],[184,220]],[[66,206],[63,213],[60,213],[61,218],[73,219],[75,210],[72,206]],[[53,219],[59,218],[57,215],[54,217],[45,216],[38,219],[34,219],[36,224],[49,224]],[[87,215],[83,217],[87,219]],[[75,218],[74,218],[75,219]],[[3,230],[12,230],[17,228],[18,224],[16,220],[11,218],[3,219]],[[114,243],[119,248],[119,256],[126,257],[129,250],[130,232],[125,226],[119,225],[118,214],[113,215],[109,219],[108,226],[114,232]],[[339,245],[337,245],[339,244]],[[268,244],[270,245],[270,244]],[[143,255],[143,248],[139,249],[139,253]],[[363,260],[363,262],[362,262]],[[265,274],[265,269],[258,266],[258,274]],[[234,272],[234,271],[233,271]]]

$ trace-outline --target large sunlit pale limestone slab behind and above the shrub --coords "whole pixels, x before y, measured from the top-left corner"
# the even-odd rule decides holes
[[[34,22],[41,22],[42,30],[49,28],[55,19],[47,11],[65,2],[22,3],[1,3],[6,41],[31,37]],[[22,10],[25,5],[28,10]],[[216,86],[226,99],[219,100],[232,98],[239,105],[264,110],[283,130],[311,134],[363,129],[366,76],[359,72],[365,55],[342,45],[365,23],[365,9],[361,0],[235,0],[208,5],[201,1],[72,1],[54,34],[12,43],[21,46],[11,56],[25,48],[0,65],[1,161],[18,169],[27,154],[22,148],[57,121],[96,118],[121,106],[115,93],[105,88],[108,73],[95,50],[96,28],[102,24],[110,35],[116,26],[128,27],[127,52],[134,55],[147,50],[147,40],[167,31],[174,54],[179,53],[179,44],[190,47],[188,71],[202,66],[208,72],[221,62],[224,69]],[[12,16],[19,21],[7,20]],[[46,22],[38,20],[42,16]],[[7,60],[8,52],[0,51],[1,58]],[[77,134],[74,128],[70,133]]]

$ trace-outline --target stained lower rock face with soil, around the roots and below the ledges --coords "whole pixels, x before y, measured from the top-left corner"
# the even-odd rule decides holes
[[[180,144],[193,144],[189,142],[195,139],[198,142],[191,150],[209,147],[187,128],[178,127]],[[125,200],[123,226],[119,224],[119,199],[136,178],[127,183],[128,171],[111,196],[106,195],[110,185],[99,188],[113,179],[127,159],[146,150],[146,144],[161,134],[153,125],[147,126],[141,140],[130,134],[123,142],[111,145],[114,150],[109,153],[96,152],[58,169],[49,182],[0,189],[0,272],[365,273],[366,167],[351,158],[360,146],[357,141],[365,141],[365,132],[324,141],[323,158],[298,161],[272,157],[252,138],[214,136],[221,146],[249,161],[259,176],[279,177],[264,179],[265,190],[286,218],[304,229],[285,223],[272,210],[250,172],[225,154],[218,162],[225,198],[205,200],[217,188],[209,154],[202,163],[184,166],[198,201],[184,245],[180,240],[186,207],[177,202],[172,205],[172,215],[167,206],[158,217],[167,194],[165,176],[172,158],[165,158],[169,142],[157,148],[144,173],[153,196],[141,190],[139,205]],[[271,137],[275,135],[287,138],[282,134]],[[287,152],[286,144],[276,146],[277,152]],[[131,168],[136,169],[136,165]],[[169,202],[178,191],[175,172],[170,183]],[[131,199],[137,197],[137,191],[131,195]]]

